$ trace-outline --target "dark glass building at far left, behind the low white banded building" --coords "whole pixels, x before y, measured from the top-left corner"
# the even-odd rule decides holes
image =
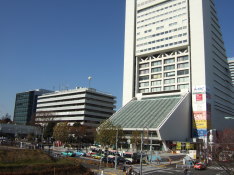
[[[32,124],[36,114],[37,98],[43,93],[52,92],[45,89],[36,89],[16,94],[13,121],[18,124]]]

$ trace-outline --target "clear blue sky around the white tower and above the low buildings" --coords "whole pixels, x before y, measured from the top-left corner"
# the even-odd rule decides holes
[[[232,0],[216,0],[234,56]],[[125,0],[0,0],[0,116],[33,89],[91,87],[122,104]]]

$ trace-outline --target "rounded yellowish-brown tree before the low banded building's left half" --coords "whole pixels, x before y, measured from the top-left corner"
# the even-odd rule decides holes
[[[69,137],[69,125],[68,122],[57,123],[54,127],[53,138],[66,143]]]

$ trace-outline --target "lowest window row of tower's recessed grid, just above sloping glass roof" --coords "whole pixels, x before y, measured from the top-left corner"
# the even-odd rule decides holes
[[[163,88],[162,87],[154,87],[154,88],[151,88],[151,92],[172,91],[172,90],[181,90],[181,89],[189,89],[189,84],[177,85],[177,89],[176,89],[175,85],[164,86]],[[149,88],[140,89],[139,92],[140,93],[148,93],[149,90],[150,90]]]

